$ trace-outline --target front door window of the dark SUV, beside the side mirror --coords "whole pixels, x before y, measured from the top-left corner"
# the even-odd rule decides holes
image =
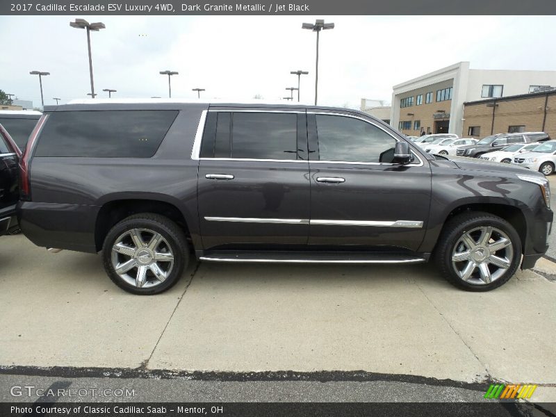
[[[377,126],[352,117],[316,119],[320,161],[392,162],[395,139]]]

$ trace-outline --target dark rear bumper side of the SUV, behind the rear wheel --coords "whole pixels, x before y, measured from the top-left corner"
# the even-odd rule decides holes
[[[99,206],[19,202],[17,219],[24,235],[42,247],[97,253],[95,222]]]

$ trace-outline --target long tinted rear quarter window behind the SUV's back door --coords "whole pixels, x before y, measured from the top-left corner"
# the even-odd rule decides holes
[[[177,111],[54,112],[44,125],[35,156],[149,158]]]

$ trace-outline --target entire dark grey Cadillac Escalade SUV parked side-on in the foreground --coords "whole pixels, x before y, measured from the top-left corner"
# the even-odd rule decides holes
[[[469,291],[547,249],[539,172],[423,152],[345,108],[177,101],[45,108],[21,161],[36,245],[101,252],[115,284],[170,288],[190,262],[419,263]],[[372,274],[372,269],[369,270]]]

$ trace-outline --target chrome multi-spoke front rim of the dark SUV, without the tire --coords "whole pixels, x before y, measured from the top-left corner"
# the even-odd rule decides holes
[[[496,227],[477,227],[464,232],[452,251],[452,267],[469,284],[490,284],[512,265],[512,240]]]

